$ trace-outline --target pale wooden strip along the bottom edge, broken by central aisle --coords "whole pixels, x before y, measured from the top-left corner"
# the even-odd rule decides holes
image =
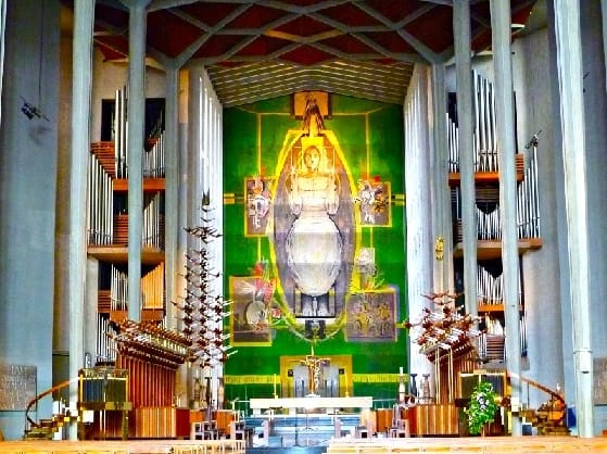
[[[281,447],[288,454],[291,449]],[[301,452],[302,449],[298,449]],[[316,449],[318,450],[318,449]],[[129,440],[129,441],[4,441],[0,453],[11,454],[239,454],[245,446],[238,440]],[[253,452],[253,450],[251,450]],[[315,451],[318,452],[318,451]],[[469,437],[469,438],[370,438],[333,439],[328,454],[358,453],[607,453],[607,437]]]

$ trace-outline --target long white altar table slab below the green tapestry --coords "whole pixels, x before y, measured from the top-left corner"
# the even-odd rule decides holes
[[[370,409],[372,398],[261,398],[251,399],[250,407],[253,415],[260,415],[263,409],[287,408],[289,414],[308,413],[312,409],[324,408],[326,413],[334,413],[336,408],[361,408]],[[301,408],[302,411],[298,412]]]

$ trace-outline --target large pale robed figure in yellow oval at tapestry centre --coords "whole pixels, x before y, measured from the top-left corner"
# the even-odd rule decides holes
[[[295,318],[331,319],[344,310],[356,247],[353,182],[337,137],[304,116],[286,135],[276,175],[274,253]]]

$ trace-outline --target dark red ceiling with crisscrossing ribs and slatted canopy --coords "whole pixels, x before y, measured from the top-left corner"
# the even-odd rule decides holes
[[[203,64],[225,106],[301,90],[402,103],[416,62],[453,58],[452,0],[98,0],[96,45],[128,59],[129,4],[147,4],[148,56]],[[490,46],[489,0],[470,0],[472,48]],[[535,0],[510,0],[524,24]]]

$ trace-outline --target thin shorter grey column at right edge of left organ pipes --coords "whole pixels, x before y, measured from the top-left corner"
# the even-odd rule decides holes
[[[165,191],[164,191],[164,244],[165,244],[165,281],[166,281],[166,320],[169,328],[175,328],[174,305],[177,301],[177,235],[178,225],[178,190],[179,190],[179,140],[178,140],[178,102],[179,70],[166,71],[166,114],[165,114]]]

